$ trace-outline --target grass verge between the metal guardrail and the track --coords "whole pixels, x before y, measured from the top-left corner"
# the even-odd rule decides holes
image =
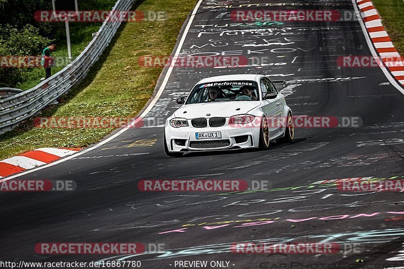
[[[136,3],[135,3],[136,5]],[[153,94],[162,68],[142,68],[143,55],[170,55],[195,0],[145,0],[141,11],[165,11],[166,21],[121,25],[87,77],[41,116],[135,116]],[[0,136],[0,160],[41,147],[79,148],[98,142],[109,129],[38,128],[25,122]]]

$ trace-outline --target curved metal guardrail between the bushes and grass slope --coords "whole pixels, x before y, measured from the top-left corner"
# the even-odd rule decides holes
[[[128,10],[132,3],[133,0],[118,0],[112,11]],[[0,133],[34,116],[83,79],[108,47],[120,25],[120,22],[106,20],[84,51],[63,70],[29,90],[0,99]]]

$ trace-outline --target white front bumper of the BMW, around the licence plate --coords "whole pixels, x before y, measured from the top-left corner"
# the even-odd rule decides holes
[[[196,132],[220,131],[216,139],[196,139]],[[260,128],[256,127],[205,127],[192,126],[175,128],[166,123],[166,143],[170,152],[214,151],[256,148],[259,145]]]

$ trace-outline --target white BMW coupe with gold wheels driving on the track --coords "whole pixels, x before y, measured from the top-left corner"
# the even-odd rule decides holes
[[[167,120],[167,156],[191,151],[269,148],[270,141],[291,142],[292,111],[271,81],[263,75],[226,75],[200,80],[182,106]]]

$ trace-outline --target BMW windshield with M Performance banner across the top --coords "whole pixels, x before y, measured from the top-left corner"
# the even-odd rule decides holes
[[[258,100],[258,84],[255,81],[221,81],[196,85],[186,104]]]

